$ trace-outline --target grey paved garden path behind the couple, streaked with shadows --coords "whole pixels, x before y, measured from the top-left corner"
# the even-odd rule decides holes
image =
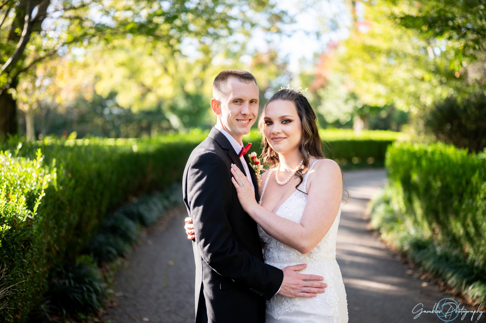
[[[383,169],[348,171],[351,199],[342,208],[337,261],[346,286],[350,323],[442,322],[435,314],[414,320],[412,309],[432,310],[443,298],[438,287],[400,262],[376,233],[367,229],[366,207],[385,183]],[[194,322],[194,258],[184,234],[186,210],[177,208],[142,237],[115,284],[117,306],[111,323]]]

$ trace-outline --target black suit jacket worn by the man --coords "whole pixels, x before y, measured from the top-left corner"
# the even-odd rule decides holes
[[[244,174],[233,146],[213,128],[184,170],[184,203],[195,231],[196,322],[264,323],[265,299],[278,291],[283,272],[263,262],[257,224],[238,201],[231,163]]]

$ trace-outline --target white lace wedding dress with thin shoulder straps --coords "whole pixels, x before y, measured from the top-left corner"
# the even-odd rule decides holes
[[[316,162],[312,163],[299,186],[299,189],[304,192],[306,192],[307,178]],[[271,175],[272,173],[268,174],[261,190],[260,203]],[[306,203],[307,194],[295,191],[280,205],[275,214],[300,223]],[[305,255],[278,242],[258,226],[260,239],[267,243],[264,252],[265,263],[280,269],[307,263],[307,268],[299,273],[321,275],[324,277],[324,282],[328,284],[324,293],[313,298],[288,298],[275,295],[267,301],[267,323],[347,323],[346,291],[341,270],[336,262],[336,236],[340,215],[341,208],[328,233]]]

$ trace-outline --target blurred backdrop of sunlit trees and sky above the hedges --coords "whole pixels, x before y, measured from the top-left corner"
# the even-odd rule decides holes
[[[306,29],[302,17],[319,8],[331,14],[313,14],[319,28]],[[327,0],[294,9],[268,0],[5,0],[0,18],[3,135],[208,129],[212,80],[226,68],[251,71],[262,102],[288,82],[309,87],[323,128],[455,143],[439,131],[454,123],[436,111],[466,100],[469,115],[485,114],[479,0]],[[302,31],[320,47],[287,48]],[[471,145],[460,144],[484,147]]]

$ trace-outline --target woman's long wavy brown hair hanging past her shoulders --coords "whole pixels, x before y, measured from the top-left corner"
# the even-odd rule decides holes
[[[299,143],[299,153],[303,160],[303,168],[300,168],[295,172],[295,177],[299,178],[299,183],[295,186],[298,190],[298,186],[304,180],[304,172],[309,169],[309,160],[313,156],[317,159],[325,159],[324,152],[322,151],[321,137],[319,136],[319,129],[317,128],[317,116],[311,107],[311,103],[302,93],[297,92],[292,89],[282,89],[277,91],[265,104],[263,111],[260,114],[260,119],[258,121],[258,129],[262,133],[261,138],[261,158],[264,163],[269,163],[271,168],[279,166],[280,161],[278,160],[278,153],[272,149],[265,138],[265,109],[268,103],[275,101],[290,101],[295,104],[297,113],[302,123],[302,139]],[[300,190],[299,190],[300,191]],[[301,191],[302,192],[302,191]],[[305,192],[302,192],[305,193]]]

